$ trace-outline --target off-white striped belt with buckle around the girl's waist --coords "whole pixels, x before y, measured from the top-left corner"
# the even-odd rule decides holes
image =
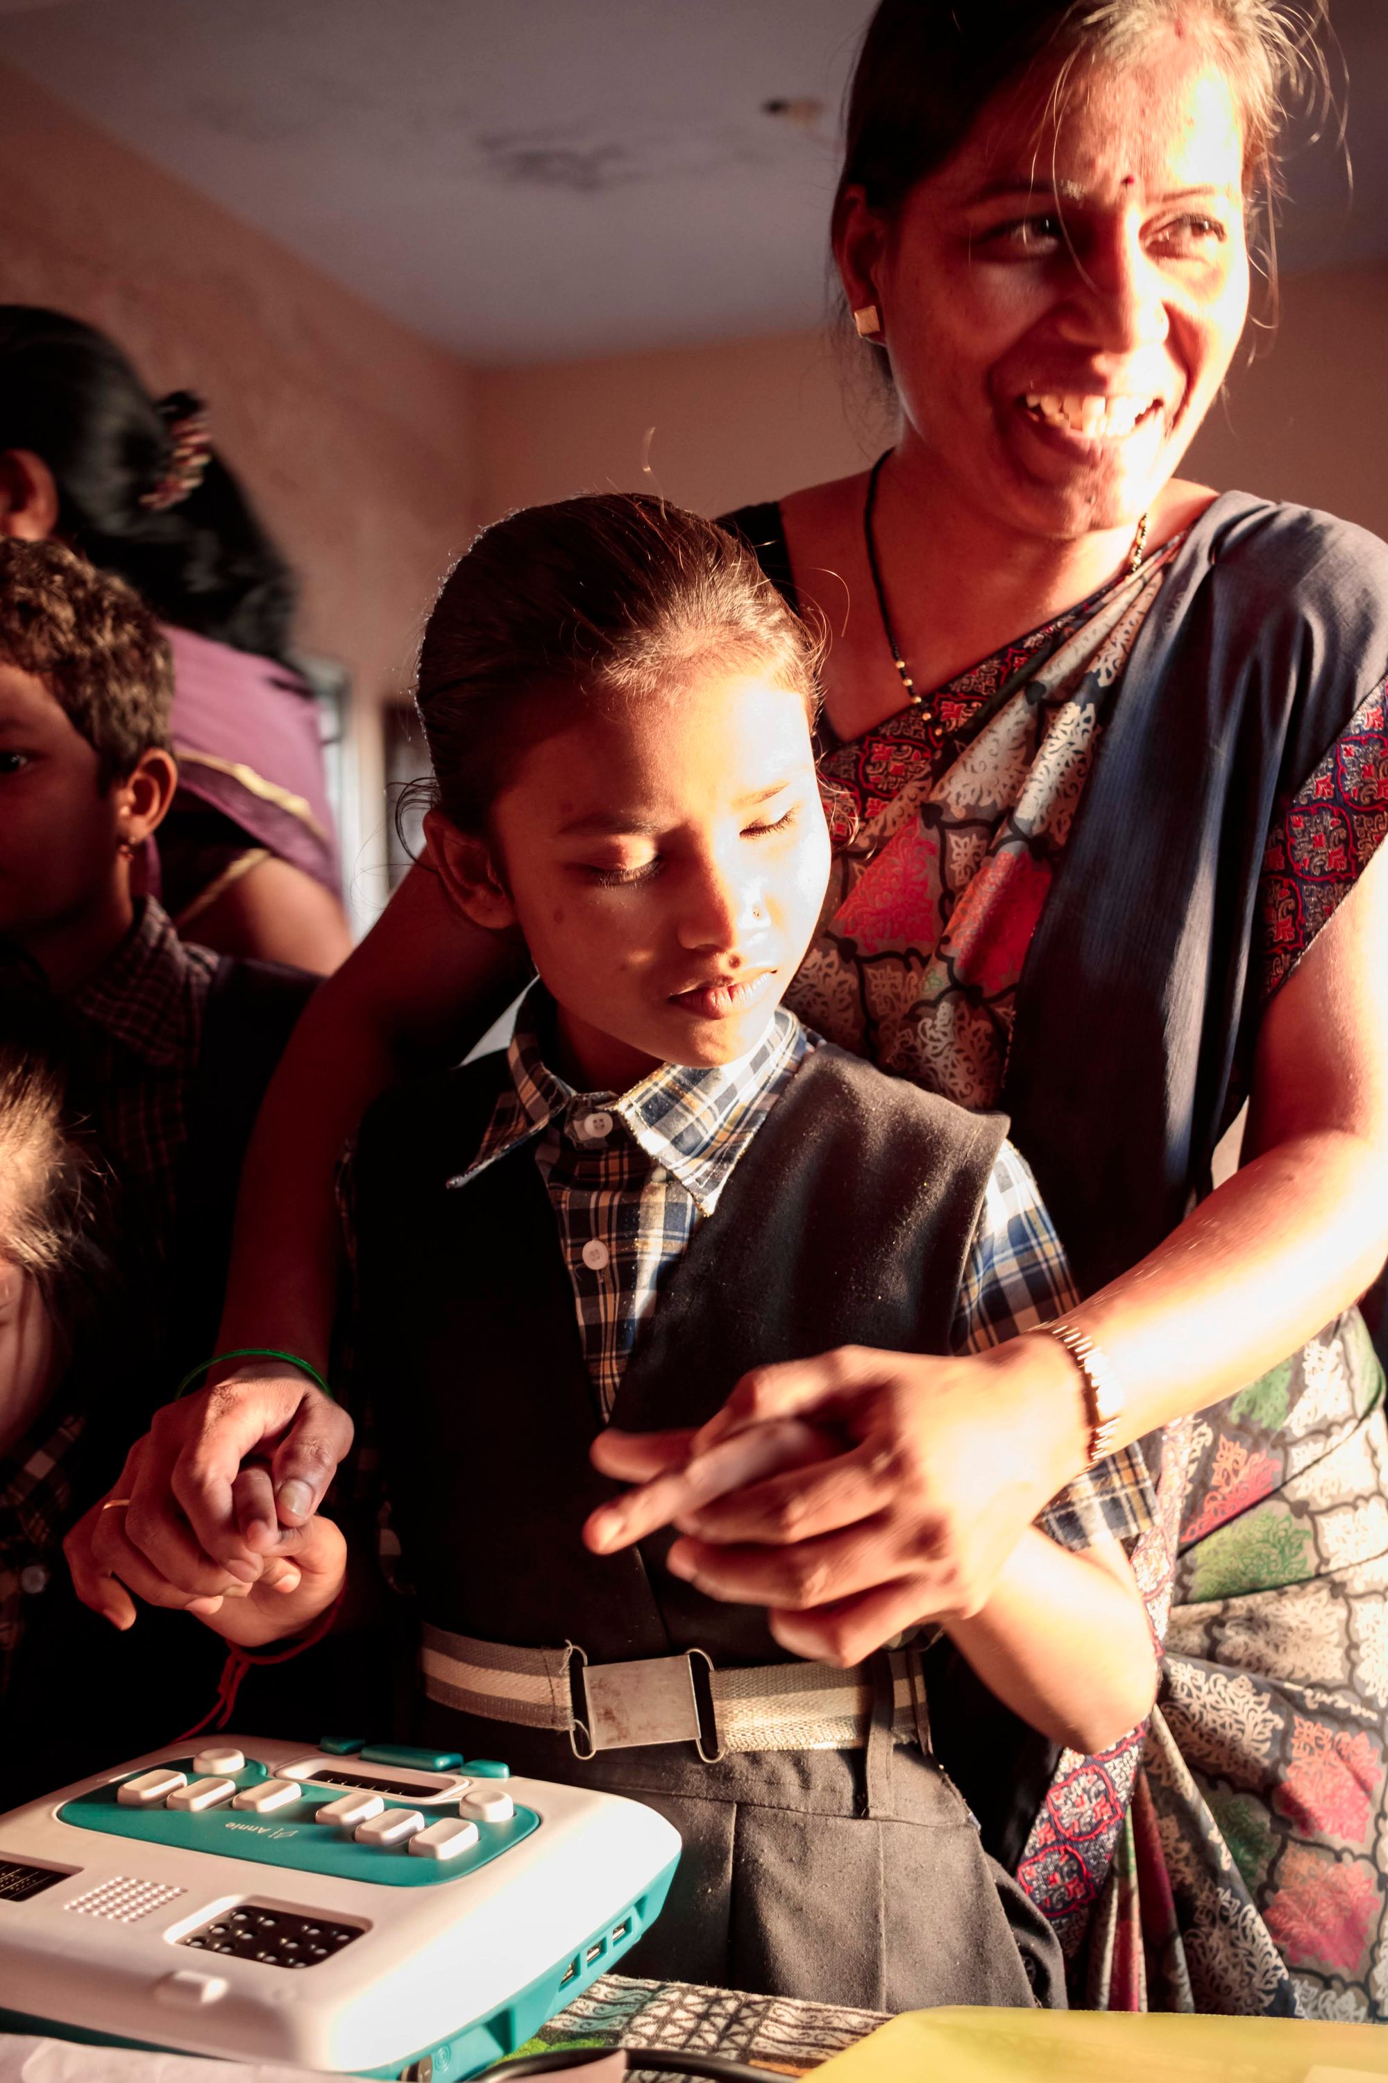
[[[891,1735],[930,1750],[920,1650],[886,1654]],[[593,1664],[574,1641],[562,1650],[518,1650],[431,1625],[420,1668],[425,1693],[437,1706],[551,1729],[568,1737],[576,1758],[643,1743],[695,1743],[705,1764],[743,1750],[862,1750],[884,1683],[878,1662],[847,1671],[803,1660],[720,1668],[705,1650],[685,1650]],[[695,1668],[705,1675],[703,1712]]]

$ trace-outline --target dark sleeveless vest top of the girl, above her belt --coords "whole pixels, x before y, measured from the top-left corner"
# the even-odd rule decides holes
[[[599,1410],[533,1144],[445,1185],[506,1077],[483,1060],[391,1094],[358,1146],[362,1352],[425,1618],[526,1648],[572,1637],[593,1660],[697,1643],[778,1662],[760,1610],[668,1575],[670,1535],[620,1556],[579,1539],[618,1485],[589,1464]],[[612,1423],[701,1425],[749,1366],[832,1346],[947,1352],[1003,1129],[814,1050],[664,1283]]]

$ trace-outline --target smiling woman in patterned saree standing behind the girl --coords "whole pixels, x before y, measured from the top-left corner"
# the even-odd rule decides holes
[[[918,1354],[762,1379],[739,1423],[832,1410],[878,1441],[889,1494],[795,1471],[680,1552],[801,1654],[864,1656],[961,1581],[986,1591],[1084,1464],[1103,1377],[1117,1439],[1169,1427],[1140,1556],[1172,1614],[1161,1704],[1120,1756],[1030,1781],[991,1848],[1070,1952],[1090,1946],[1095,2002],[1373,2018],[1388,1427],[1355,1300],[1388,1254],[1388,550],[1180,475],[1267,265],[1321,17],[882,0],[868,25],[830,229],[897,437],[872,471],[735,517],[832,629],[843,814],[789,1002],[932,1091],[1007,1106],[1097,1356],[1022,1339],[970,1396]],[[341,1137],[520,981],[433,877],[406,881],[268,1096],[223,1350],[325,1362]],[[345,1433],[298,1371],[227,1362],[139,1481],[152,1548],[179,1566],[177,1494],[221,1579],[254,1571],[241,1454],[264,1444],[298,1525]]]

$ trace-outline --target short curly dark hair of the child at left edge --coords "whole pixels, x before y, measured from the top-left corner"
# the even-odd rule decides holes
[[[60,542],[0,542],[0,660],[44,681],[102,789],[169,748],[173,658],[154,614]]]

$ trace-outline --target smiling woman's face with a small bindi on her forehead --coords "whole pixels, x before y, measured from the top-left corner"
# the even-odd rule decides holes
[[[1249,306],[1244,140],[1180,31],[1080,73],[1059,123],[1036,110],[1034,85],[1001,98],[891,221],[851,196],[839,258],[882,312],[903,452],[993,521],[1074,539],[1136,527],[1219,392]]]

